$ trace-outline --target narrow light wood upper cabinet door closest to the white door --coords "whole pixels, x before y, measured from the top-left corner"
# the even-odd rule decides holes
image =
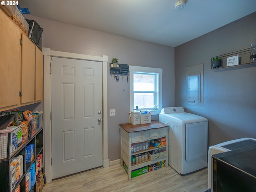
[[[36,47],[35,63],[35,101],[40,102],[43,98],[43,53]]]

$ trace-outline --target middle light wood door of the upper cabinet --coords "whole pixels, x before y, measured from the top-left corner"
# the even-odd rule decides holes
[[[21,46],[21,104],[30,104],[35,98],[35,46],[22,33]]]

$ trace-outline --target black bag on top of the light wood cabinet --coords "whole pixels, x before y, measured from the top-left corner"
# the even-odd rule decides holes
[[[26,21],[29,24],[28,37],[42,50],[42,42],[40,40],[42,41],[41,36],[44,29],[34,20],[26,19]]]

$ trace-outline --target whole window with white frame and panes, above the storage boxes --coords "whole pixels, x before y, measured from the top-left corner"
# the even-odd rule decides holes
[[[162,69],[130,67],[130,110],[146,109],[152,115],[162,109]]]

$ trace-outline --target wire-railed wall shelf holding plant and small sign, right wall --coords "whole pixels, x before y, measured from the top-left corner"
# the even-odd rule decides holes
[[[250,63],[250,52],[251,52],[251,48],[248,48],[248,49],[220,55],[219,57],[221,58],[221,66],[218,68],[212,68],[212,70],[218,70],[218,69],[223,69],[223,68],[234,68],[234,67],[239,67],[239,66],[256,64],[256,62]],[[239,56],[239,64],[234,65],[234,66],[227,66],[227,58],[236,56],[236,55]]]

